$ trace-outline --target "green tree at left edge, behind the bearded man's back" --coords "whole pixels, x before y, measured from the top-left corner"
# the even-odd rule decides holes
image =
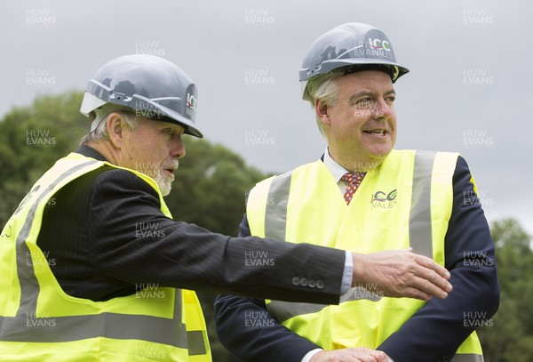
[[[9,219],[33,183],[54,162],[76,149],[88,128],[79,113],[80,93],[41,96],[12,109],[0,121],[0,224]]]

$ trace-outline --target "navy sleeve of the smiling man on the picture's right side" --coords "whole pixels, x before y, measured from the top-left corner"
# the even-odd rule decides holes
[[[499,284],[494,244],[465,159],[453,177],[453,209],[445,238],[446,268],[453,291],[432,298],[378,350],[395,362],[451,360],[474,326],[497,311]]]

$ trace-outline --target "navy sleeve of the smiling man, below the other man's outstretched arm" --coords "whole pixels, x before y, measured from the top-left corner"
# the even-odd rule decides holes
[[[240,227],[240,237],[251,234],[246,215]],[[299,362],[308,351],[320,348],[282,326],[267,312],[263,299],[219,295],[215,325],[219,341],[243,362]]]

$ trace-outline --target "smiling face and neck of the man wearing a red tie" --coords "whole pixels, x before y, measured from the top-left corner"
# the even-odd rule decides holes
[[[391,77],[378,70],[358,71],[336,77],[335,85],[333,102],[315,103],[329,155],[346,170],[375,169],[396,141]]]

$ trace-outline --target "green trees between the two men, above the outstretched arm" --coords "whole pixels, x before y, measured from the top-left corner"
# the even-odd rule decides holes
[[[173,216],[235,236],[248,190],[266,175],[221,145],[192,137],[185,145],[187,156],[179,160],[176,181],[166,197]]]

